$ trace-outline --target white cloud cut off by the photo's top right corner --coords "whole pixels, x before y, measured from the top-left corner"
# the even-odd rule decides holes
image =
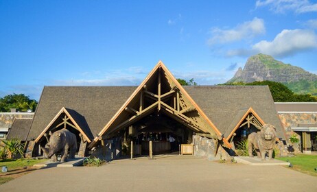
[[[284,13],[288,10],[298,14],[317,12],[317,3],[310,3],[307,0],[259,0],[255,3],[256,8],[263,6],[268,6],[270,10],[277,13]]]

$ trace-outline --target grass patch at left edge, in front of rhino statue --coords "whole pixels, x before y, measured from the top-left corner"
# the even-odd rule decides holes
[[[30,171],[35,170],[34,168],[30,168],[36,163],[43,162],[47,159],[27,159],[27,158],[21,158],[21,159],[5,159],[0,160],[0,170],[3,166],[8,167],[8,172],[2,173],[0,171],[0,185],[9,182],[10,180],[14,180],[14,178],[18,178],[19,176],[23,176],[25,173],[29,173]]]

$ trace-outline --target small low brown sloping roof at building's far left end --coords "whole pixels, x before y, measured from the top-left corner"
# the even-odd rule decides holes
[[[7,139],[27,140],[27,134],[30,131],[32,118],[16,118],[12,123]]]

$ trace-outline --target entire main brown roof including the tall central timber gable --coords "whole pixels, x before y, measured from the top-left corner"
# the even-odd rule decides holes
[[[157,91],[158,85],[161,91]],[[171,94],[176,94],[175,90],[179,91],[181,110],[194,108],[193,112],[187,112],[186,117],[161,101],[161,97],[166,95],[173,98]],[[144,94],[154,101],[150,99],[152,103],[142,106],[140,99]],[[246,117],[246,112],[253,112],[261,122],[274,125],[278,136],[285,138],[268,86],[183,87],[160,61],[138,87],[45,86],[27,139],[41,136],[63,111],[85,132],[92,141],[89,146],[93,146],[99,141],[99,136],[139,121],[156,108],[161,108],[176,121],[183,118],[191,125],[197,123],[198,132],[224,134],[225,138]]]

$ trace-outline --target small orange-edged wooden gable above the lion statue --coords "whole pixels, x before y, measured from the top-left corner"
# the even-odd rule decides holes
[[[249,117],[249,115],[253,115],[254,117]],[[250,118],[250,119],[248,119]],[[233,133],[235,133],[235,131],[242,125],[242,122],[247,119],[248,121],[246,121],[246,123],[252,123],[252,119],[251,118],[255,118],[254,123],[257,127],[264,125],[264,121],[261,119],[261,117],[259,117],[259,115],[257,115],[257,112],[255,112],[255,110],[253,110],[253,108],[248,108],[248,110],[246,110],[246,112],[244,112],[244,115],[242,116],[242,118],[237,119],[238,122],[233,122],[235,124],[234,128],[228,128],[227,132],[230,132],[230,134],[226,135],[226,140],[229,141],[229,139],[231,138],[231,136],[233,136]],[[235,120],[235,119],[233,119]],[[232,123],[231,123],[232,124]]]

